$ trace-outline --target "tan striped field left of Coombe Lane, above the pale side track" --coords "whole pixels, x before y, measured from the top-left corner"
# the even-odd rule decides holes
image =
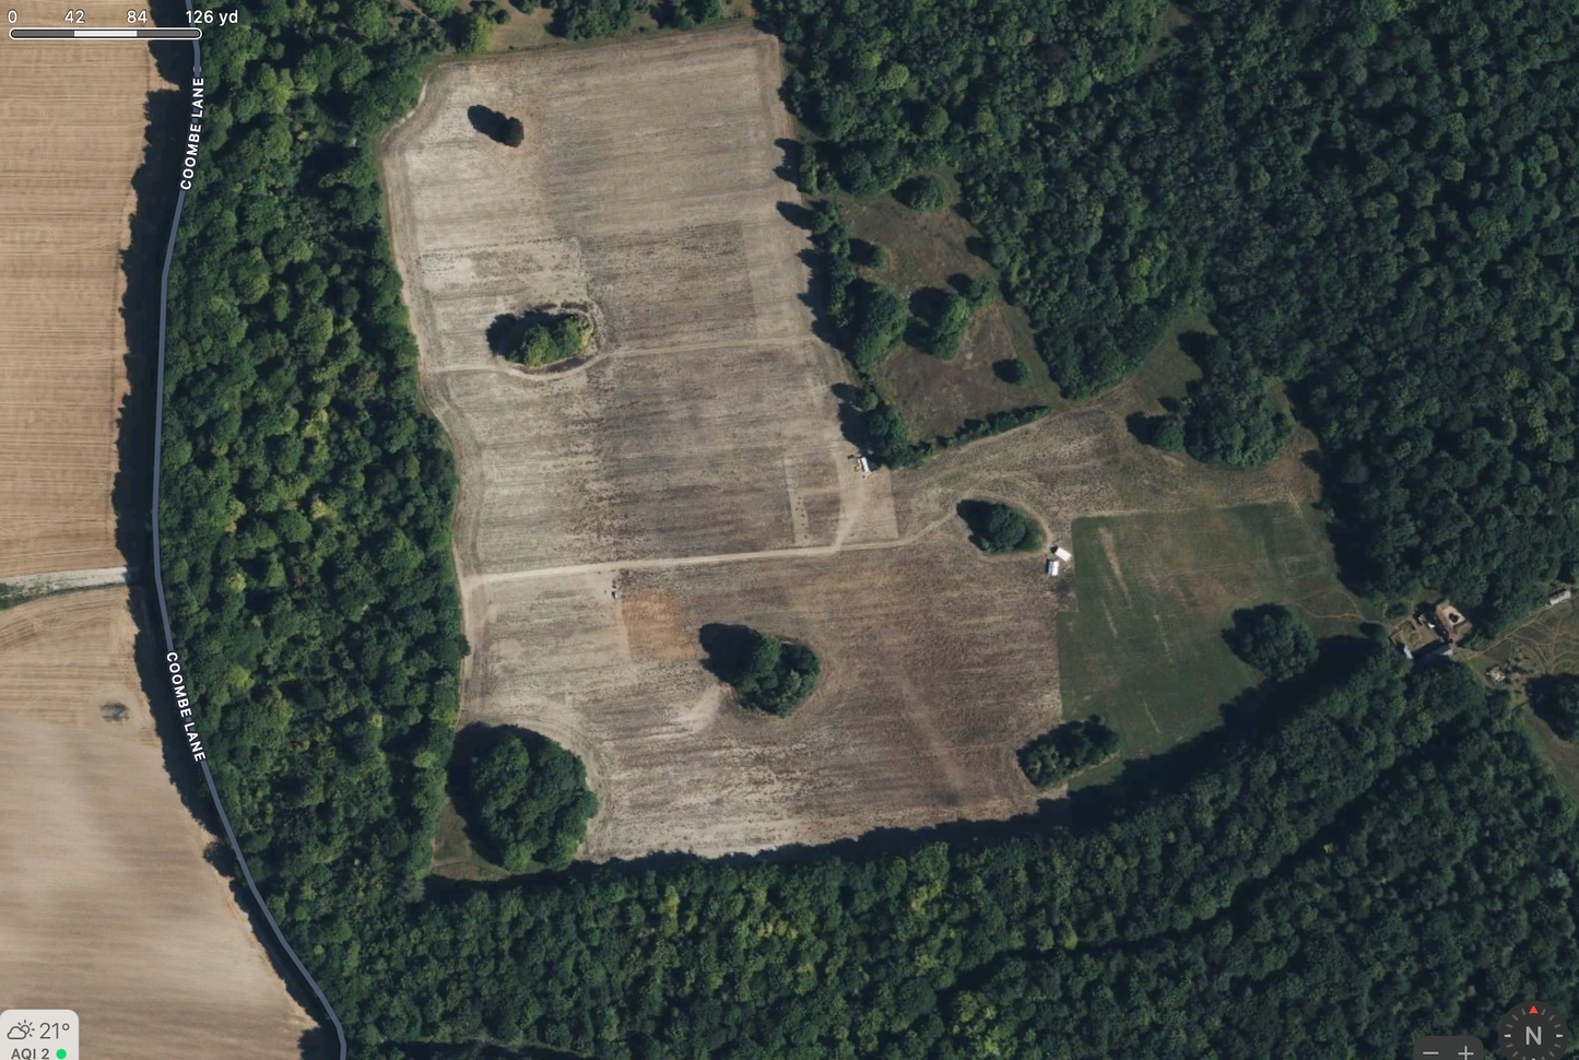
[[[63,25],[57,5],[13,5],[19,25]],[[95,27],[126,5],[74,5]],[[120,316],[147,47],[8,41],[0,62],[0,581],[112,567]]]

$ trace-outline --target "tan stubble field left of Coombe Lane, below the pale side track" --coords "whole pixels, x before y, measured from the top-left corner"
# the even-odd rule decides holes
[[[74,1008],[88,1055],[300,1055],[313,1027],[182,806],[125,588],[0,613],[0,987]]]

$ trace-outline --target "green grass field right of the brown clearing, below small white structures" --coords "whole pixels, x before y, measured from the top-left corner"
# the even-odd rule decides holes
[[[1315,513],[1296,504],[1082,518],[1072,537],[1078,611],[1058,621],[1064,712],[1104,714],[1129,757],[1210,728],[1260,679],[1222,640],[1236,608],[1284,603],[1318,635],[1361,619]]]

